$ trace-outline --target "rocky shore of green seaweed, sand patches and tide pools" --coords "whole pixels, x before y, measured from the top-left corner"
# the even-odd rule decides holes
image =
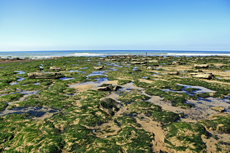
[[[13,137],[2,144],[21,151],[18,134],[24,133],[23,141],[41,140],[38,129],[59,152],[72,152],[74,144],[100,150],[94,145],[99,141],[124,152],[127,146],[139,152],[143,146],[147,152],[215,152],[217,147],[228,152],[229,59],[123,55],[6,61],[0,69],[0,119],[6,128],[0,132],[14,129],[14,123],[19,130],[10,131]],[[62,148],[47,130],[65,142]],[[31,141],[28,152],[49,146],[39,143]]]

